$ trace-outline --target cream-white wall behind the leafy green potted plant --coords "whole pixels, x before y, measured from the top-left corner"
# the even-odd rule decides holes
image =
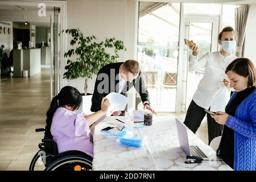
[[[100,40],[114,36],[127,48],[126,52],[119,53],[119,61],[135,59],[136,13],[137,2],[133,0],[68,0],[67,28],[78,27],[85,36],[95,35]],[[88,93],[93,93],[95,79],[94,76],[89,80]],[[75,86],[84,93],[84,78],[67,81],[67,85]]]

